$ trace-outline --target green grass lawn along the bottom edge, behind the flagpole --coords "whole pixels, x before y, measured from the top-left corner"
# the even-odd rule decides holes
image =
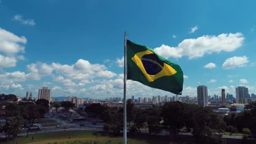
[[[34,137],[34,140],[32,140]],[[69,139],[70,137],[70,139]],[[18,144],[53,144],[54,142],[61,142],[66,144],[66,141],[108,141],[111,140],[113,144],[122,143],[123,138],[121,136],[110,136],[105,131],[58,131],[50,133],[39,133],[39,134],[30,134],[28,138],[26,136],[18,137],[14,140],[14,143]],[[189,144],[184,140],[171,142],[165,136],[154,136],[154,135],[137,135],[129,137],[127,139],[128,144]],[[37,143],[39,142],[39,143]],[[12,141],[3,142],[0,144],[12,144]],[[57,143],[59,144],[59,143]],[[62,142],[60,143],[62,144]],[[191,143],[193,144],[193,143]]]

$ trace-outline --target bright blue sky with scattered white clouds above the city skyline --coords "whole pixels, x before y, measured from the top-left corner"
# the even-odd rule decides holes
[[[256,93],[255,2],[1,0],[0,93],[123,96],[123,35],[179,64],[183,95]],[[128,97],[173,96],[128,81]]]

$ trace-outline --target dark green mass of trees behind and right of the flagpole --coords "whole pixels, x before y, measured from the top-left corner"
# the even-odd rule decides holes
[[[246,133],[243,141],[256,139],[256,102],[245,105],[245,111],[231,113],[221,117],[209,107],[180,101],[165,102],[163,107],[147,109],[135,108],[131,99],[127,100],[127,122],[129,134],[147,127],[149,134],[168,131],[171,136],[178,136],[181,128],[191,132],[197,142],[225,143],[222,133]],[[104,130],[119,135],[123,130],[123,108],[103,107],[91,104],[85,108],[88,113],[101,115],[106,123]],[[131,125],[132,123],[132,125]]]

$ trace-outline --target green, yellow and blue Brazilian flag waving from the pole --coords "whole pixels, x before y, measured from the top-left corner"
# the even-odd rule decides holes
[[[151,48],[127,40],[127,79],[181,95],[183,72],[178,64],[159,56]]]

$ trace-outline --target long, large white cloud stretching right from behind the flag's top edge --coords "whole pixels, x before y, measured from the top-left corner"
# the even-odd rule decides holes
[[[221,51],[235,51],[242,46],[243,40],[242,33],[229,33],[215,35],[203,35],[196,39],[185,39],[179,43],[178,47],[170,47],[168,45],[161,45],[155,48],[159,55],[169,58],[181,58],[182,56],[188,56],[189,59],[195,59],[204,56],[205,53],[219,53]]]

